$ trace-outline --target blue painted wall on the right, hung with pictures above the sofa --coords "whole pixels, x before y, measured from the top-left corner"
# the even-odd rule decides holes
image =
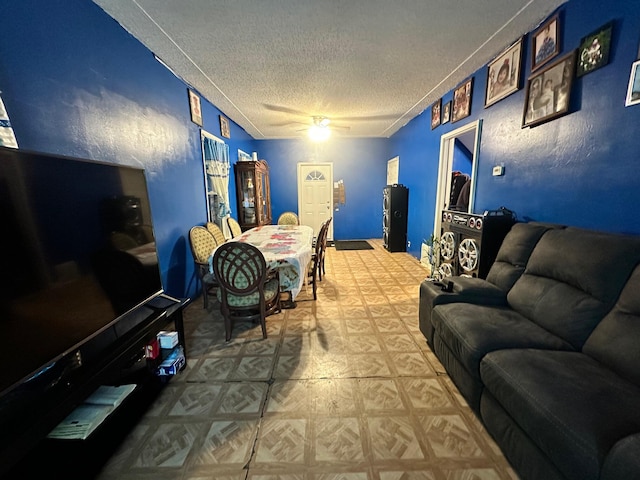
[[[568,115],[521,128],[524,88],[485,109],[485,66],[473,75],[469,117],[431,130],[427,111],[391,138],[392,154],[400,156],[400,181],[414,200],[408,231],[414,256],[433,231],[440,136],[479,118],[483,126],[476,213],[504,205],[522,220],[640,233],[640,105],[624,106],[631,64],[638,58],[640,2],[572,0],[559,12],[562,40],[557,58],[615,20],[610,63],[574,80]],[[524,42],[524,79],[531,71],[530,37]],[[448,92],[443,103],[451,98]],[[492,176],[495,165],[504,165],[504,176]]]

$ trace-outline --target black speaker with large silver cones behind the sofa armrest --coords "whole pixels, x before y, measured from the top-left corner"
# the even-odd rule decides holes
[[[439,276],[487,278],[514,223],[515,215],[506,208],[483,215],[443,210]]]

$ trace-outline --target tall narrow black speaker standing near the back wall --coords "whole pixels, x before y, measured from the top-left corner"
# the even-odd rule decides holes
[[[382,243],[390,252],[407,251],[409,189],[387,185],[382,191]]]

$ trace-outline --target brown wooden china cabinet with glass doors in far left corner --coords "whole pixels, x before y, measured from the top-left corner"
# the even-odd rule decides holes
[[[269,165],[266,160],[238,162],[234,171],[238,223],[242,230],[271,224]]]

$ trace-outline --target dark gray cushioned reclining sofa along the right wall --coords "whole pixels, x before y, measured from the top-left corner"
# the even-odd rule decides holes
[[[517,223],[420,329],[523,479],[640,478],[640,237]]]

